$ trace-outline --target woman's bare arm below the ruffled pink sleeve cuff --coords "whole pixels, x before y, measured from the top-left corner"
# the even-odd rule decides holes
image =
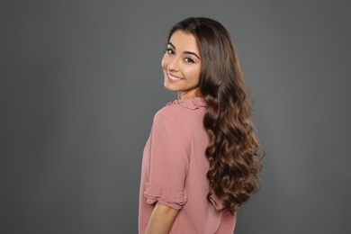
[[[148,227],[145,234],[169,233],[177,213],[178,210],[157,202],[148,220]]]

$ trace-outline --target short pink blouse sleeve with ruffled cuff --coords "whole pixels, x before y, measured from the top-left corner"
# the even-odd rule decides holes
[[[147,202],[181,209],[187,201],[184,190],[189,167],[190,139],[175,117],[157,112],[149,138]]]

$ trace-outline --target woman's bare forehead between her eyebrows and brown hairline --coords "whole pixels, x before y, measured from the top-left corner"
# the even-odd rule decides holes
[[[172,43],[177,50],[199,51],[195,37],[184,31],[175,31],[169,39],[169,42]]]

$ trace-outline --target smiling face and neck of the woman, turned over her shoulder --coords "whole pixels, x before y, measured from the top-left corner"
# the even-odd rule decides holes
[[[199,95],[201,58],[192,34],[175,31],[162,59],[166,89],[178,92],[178,98]]]

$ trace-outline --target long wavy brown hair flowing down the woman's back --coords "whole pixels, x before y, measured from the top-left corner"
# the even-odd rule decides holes
[[[229,32],[217,21],[187,18],[175,24],[168,41],[175,31],[192,34],[202,58],[200,93],[208,104],[203,125],[210,136],[207,200],[216,211],[233,214],[257,192],[262,168],[240,62]],[[213,193],[222,201],[220,208]]]

